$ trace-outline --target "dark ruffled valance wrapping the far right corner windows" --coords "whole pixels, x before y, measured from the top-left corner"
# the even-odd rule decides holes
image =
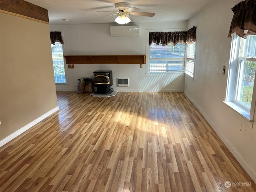
[[[149,45],[152,42],[156,45],[172,44],[175,46],[177,43],[191,44],[196,42],[196,27],[192,27],[188,31],[177,31],[177,32],[150,32],[149,33]]]

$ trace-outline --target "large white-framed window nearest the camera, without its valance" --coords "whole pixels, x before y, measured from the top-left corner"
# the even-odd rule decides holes
[[[248,119],[253,118],[254,112],[255,72],[256,34],[249,34],[247,39],[233,34],[226,101],[232,102],[233,108],[240,109],[240,113]]]

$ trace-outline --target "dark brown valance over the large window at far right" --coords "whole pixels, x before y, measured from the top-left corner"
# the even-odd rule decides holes
[[[234,32],[238,36],[246,38],[248,32],[256,32],[256,1],[246,0],[235,5],[231,10],[234,12],[228,37]]]

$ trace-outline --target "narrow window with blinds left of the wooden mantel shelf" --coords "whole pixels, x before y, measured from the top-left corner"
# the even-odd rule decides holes
[[[55,83],[66,83],[62,44],[55,42],[51,46]]]

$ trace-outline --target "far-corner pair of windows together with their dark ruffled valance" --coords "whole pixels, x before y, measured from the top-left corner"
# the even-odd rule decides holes
[[[148,74],[185,72],[194,77],[196,27],[179,32],[149,32],[148,35]]]

